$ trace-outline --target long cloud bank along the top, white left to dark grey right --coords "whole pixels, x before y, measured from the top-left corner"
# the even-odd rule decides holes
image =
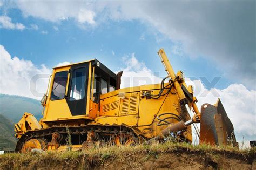
[[[205,57],[227,78],[255,89],[255,1],[15,1],[24,16],[78,23],[140,20],[176,45],[172,51]],[[136,6],[136,8],[134,8]],[[160,9],[160,10],[159,10]],[[83,27],[82,27],[83,28]],[[177,46],[178,45],[178,46]],[[177,48],[178,47],[178,48]],[[239,77],[239,78],[238,78]]]

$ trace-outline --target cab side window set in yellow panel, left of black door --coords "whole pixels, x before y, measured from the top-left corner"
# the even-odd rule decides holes
[[[68,71],[55,73],[53,87],[51,92],[51,100],[59,100],[65,97],[66,81],[68,80]]]

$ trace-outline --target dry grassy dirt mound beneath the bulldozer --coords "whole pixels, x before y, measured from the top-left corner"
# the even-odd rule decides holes
[[[256,169],[255,149],[183,144],[96,147],[81,152],[5,154],[0,169]]]

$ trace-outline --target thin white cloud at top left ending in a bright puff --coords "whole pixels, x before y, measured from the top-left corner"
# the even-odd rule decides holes
[[[96,24],[95,12],[90,9],[91,2],[84,1],[16,1],[23,15],[60,22],[70,18],[81,24]]]

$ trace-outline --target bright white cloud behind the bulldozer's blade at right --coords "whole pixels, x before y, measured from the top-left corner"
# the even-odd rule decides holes
[[[199,110],[204,103],[213,105],[220,98],[237,136],[241,139],[242,135],[245,135],[251,140],[256,136],[255,90],[248,90],[242,84],[231,84],[225,89],[209,90],[200,80],[191,81],[189,78],[186,79],[186,83],[193,86]]]

